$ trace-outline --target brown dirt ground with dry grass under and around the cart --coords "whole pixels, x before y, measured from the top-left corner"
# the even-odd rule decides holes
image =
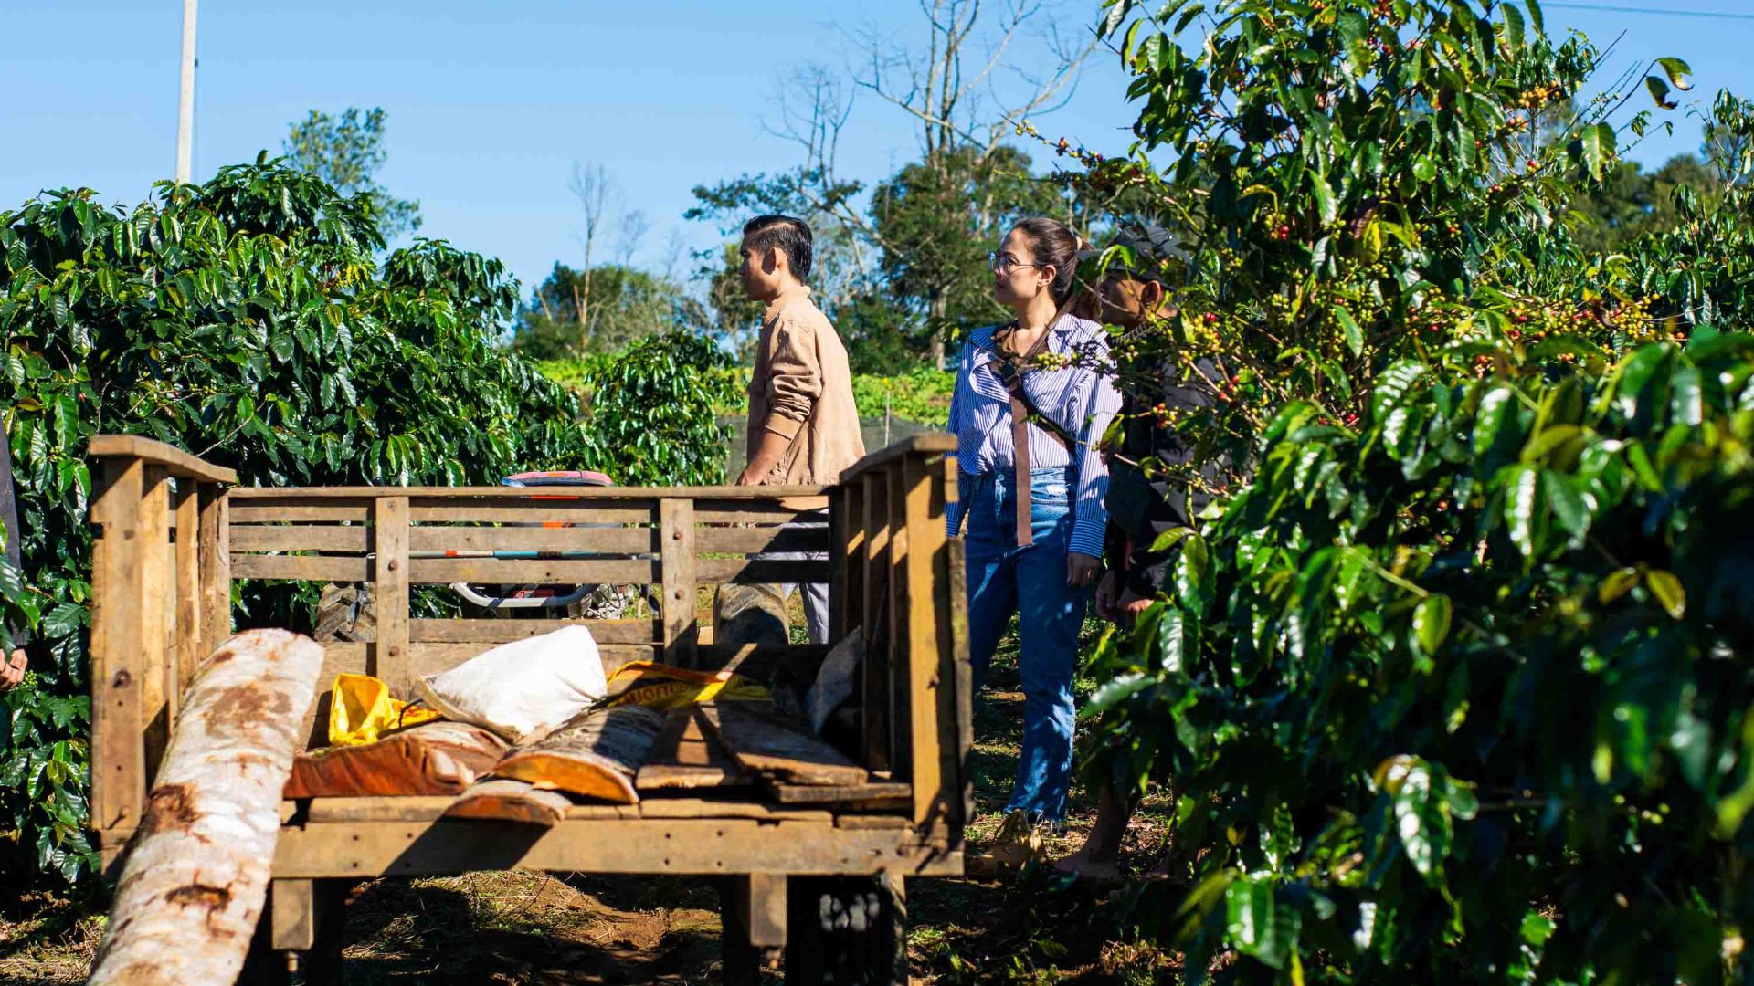
[[[1023,695],[1014,651],[1002,653],[977,700],[973,847],[991,844],[1010,791]],[[1147,800],[1128,837],[1138,874],[1163,847],[1165,805]],[[1093,816],[1073,790],[1070,853]],[[912,975],[919,982],[1159,982],[1173,956],[1117,940],[1110,905],[1044,870],[996,881],[909,881]],[[0,890],[0,982],[81,982],[102,916],[75,902]],[[346,982],[716,982],[716,890],[682,877],[481,872],[361,884],[347,907]]]

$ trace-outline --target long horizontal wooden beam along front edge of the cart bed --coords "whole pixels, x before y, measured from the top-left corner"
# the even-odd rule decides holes
[[[568,809],[568,816],[579,805]],[[277,877],[437,875],[488,868],[591,874],[961,875],[959,847],[910,830],[819,821],[567,818],[551,828],[482,821],[310,823],[281,828]]]

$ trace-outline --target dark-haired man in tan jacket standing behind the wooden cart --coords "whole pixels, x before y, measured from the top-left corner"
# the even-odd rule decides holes
[[[810,226],[789,216],[756,216],[744,225],[742,258],[744,291],[766,302],[766,311],[749,379],[749,465],[737,482],[838,482],[840,470],[865,456],[865,439],[847,349],[803,286],[810,275]],[[819,525],[826,528],[828,518]],[[789,595],[791,586],[784,591]],[[803,612],[810,642],[828,644],[826,582],[803,586]]]

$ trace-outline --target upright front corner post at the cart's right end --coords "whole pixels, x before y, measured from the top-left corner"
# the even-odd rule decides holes
[[[937,482],[933,482],[937,479]],[[942,728],[954,732],[954,654],[942,646],[938,607],[949,572],[944,568],[944,481],[924,456],[902,460],[902,486],[907,489],[907,716],[912,756],[914,825],[942,830],[949,825],[951,791],[956,788],[958,763],[944,760]],[[961,798],[958,798],[961,800]]]

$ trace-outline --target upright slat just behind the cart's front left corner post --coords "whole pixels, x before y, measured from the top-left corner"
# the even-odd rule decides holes
[[[172,695],[177,686],[177,661],[170,653],[172,605],[172,544],[170,530],[170,472],[161,465],[146,467],[146,488],[137,504],[140,551],[140,623],[139,637],[132,640],[140,653],[140,730],[146,742],[146,786],[153,788],[158,761],[170,744],[170,726],[175,718]]]

